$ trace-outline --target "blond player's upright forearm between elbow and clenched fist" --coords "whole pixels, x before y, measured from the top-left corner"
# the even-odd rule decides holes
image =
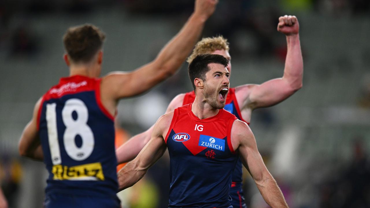
[[[285,60],[284,76],[289,85],[294,89],[302,87],[303,58],[300,48],[299,34],[286,36],[287,54]]]

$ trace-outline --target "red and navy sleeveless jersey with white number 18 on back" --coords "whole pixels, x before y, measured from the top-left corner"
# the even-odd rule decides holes
[[[61,78],[43,95],[37,128],[49,172],[47,194],[114,197],[118,191],[114,117],[101,103],[100,81]]]

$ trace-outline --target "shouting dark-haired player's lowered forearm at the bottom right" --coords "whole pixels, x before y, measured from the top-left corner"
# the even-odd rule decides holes
[[[277,185],[275,179],[271,176],[262,182],[256,182],[257,187],[266,203],[272,208],[287,208],[288,205],[284,199],[283,193]]]

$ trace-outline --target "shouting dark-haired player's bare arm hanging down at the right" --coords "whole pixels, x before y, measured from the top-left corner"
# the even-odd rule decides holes
[[[238,146],[240,158],[266,203],[272,208],[287,208],[288,205],[279,186],[263,163],[256,139],[249,126],[240,120],[235,120],[231,129],[231,139],[233,146]]]

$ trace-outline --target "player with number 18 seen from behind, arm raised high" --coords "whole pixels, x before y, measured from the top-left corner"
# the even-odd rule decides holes
[[[196,0],[194,13],[152,62],[101,78],[104,33],[91,24],[67,30],[63,42],[69,77],[37,101],[19,143],[21,155],[43,160],[49,172],[45,208],[120,207],[114,147],[118,100],[174,74],[216,4]]]

